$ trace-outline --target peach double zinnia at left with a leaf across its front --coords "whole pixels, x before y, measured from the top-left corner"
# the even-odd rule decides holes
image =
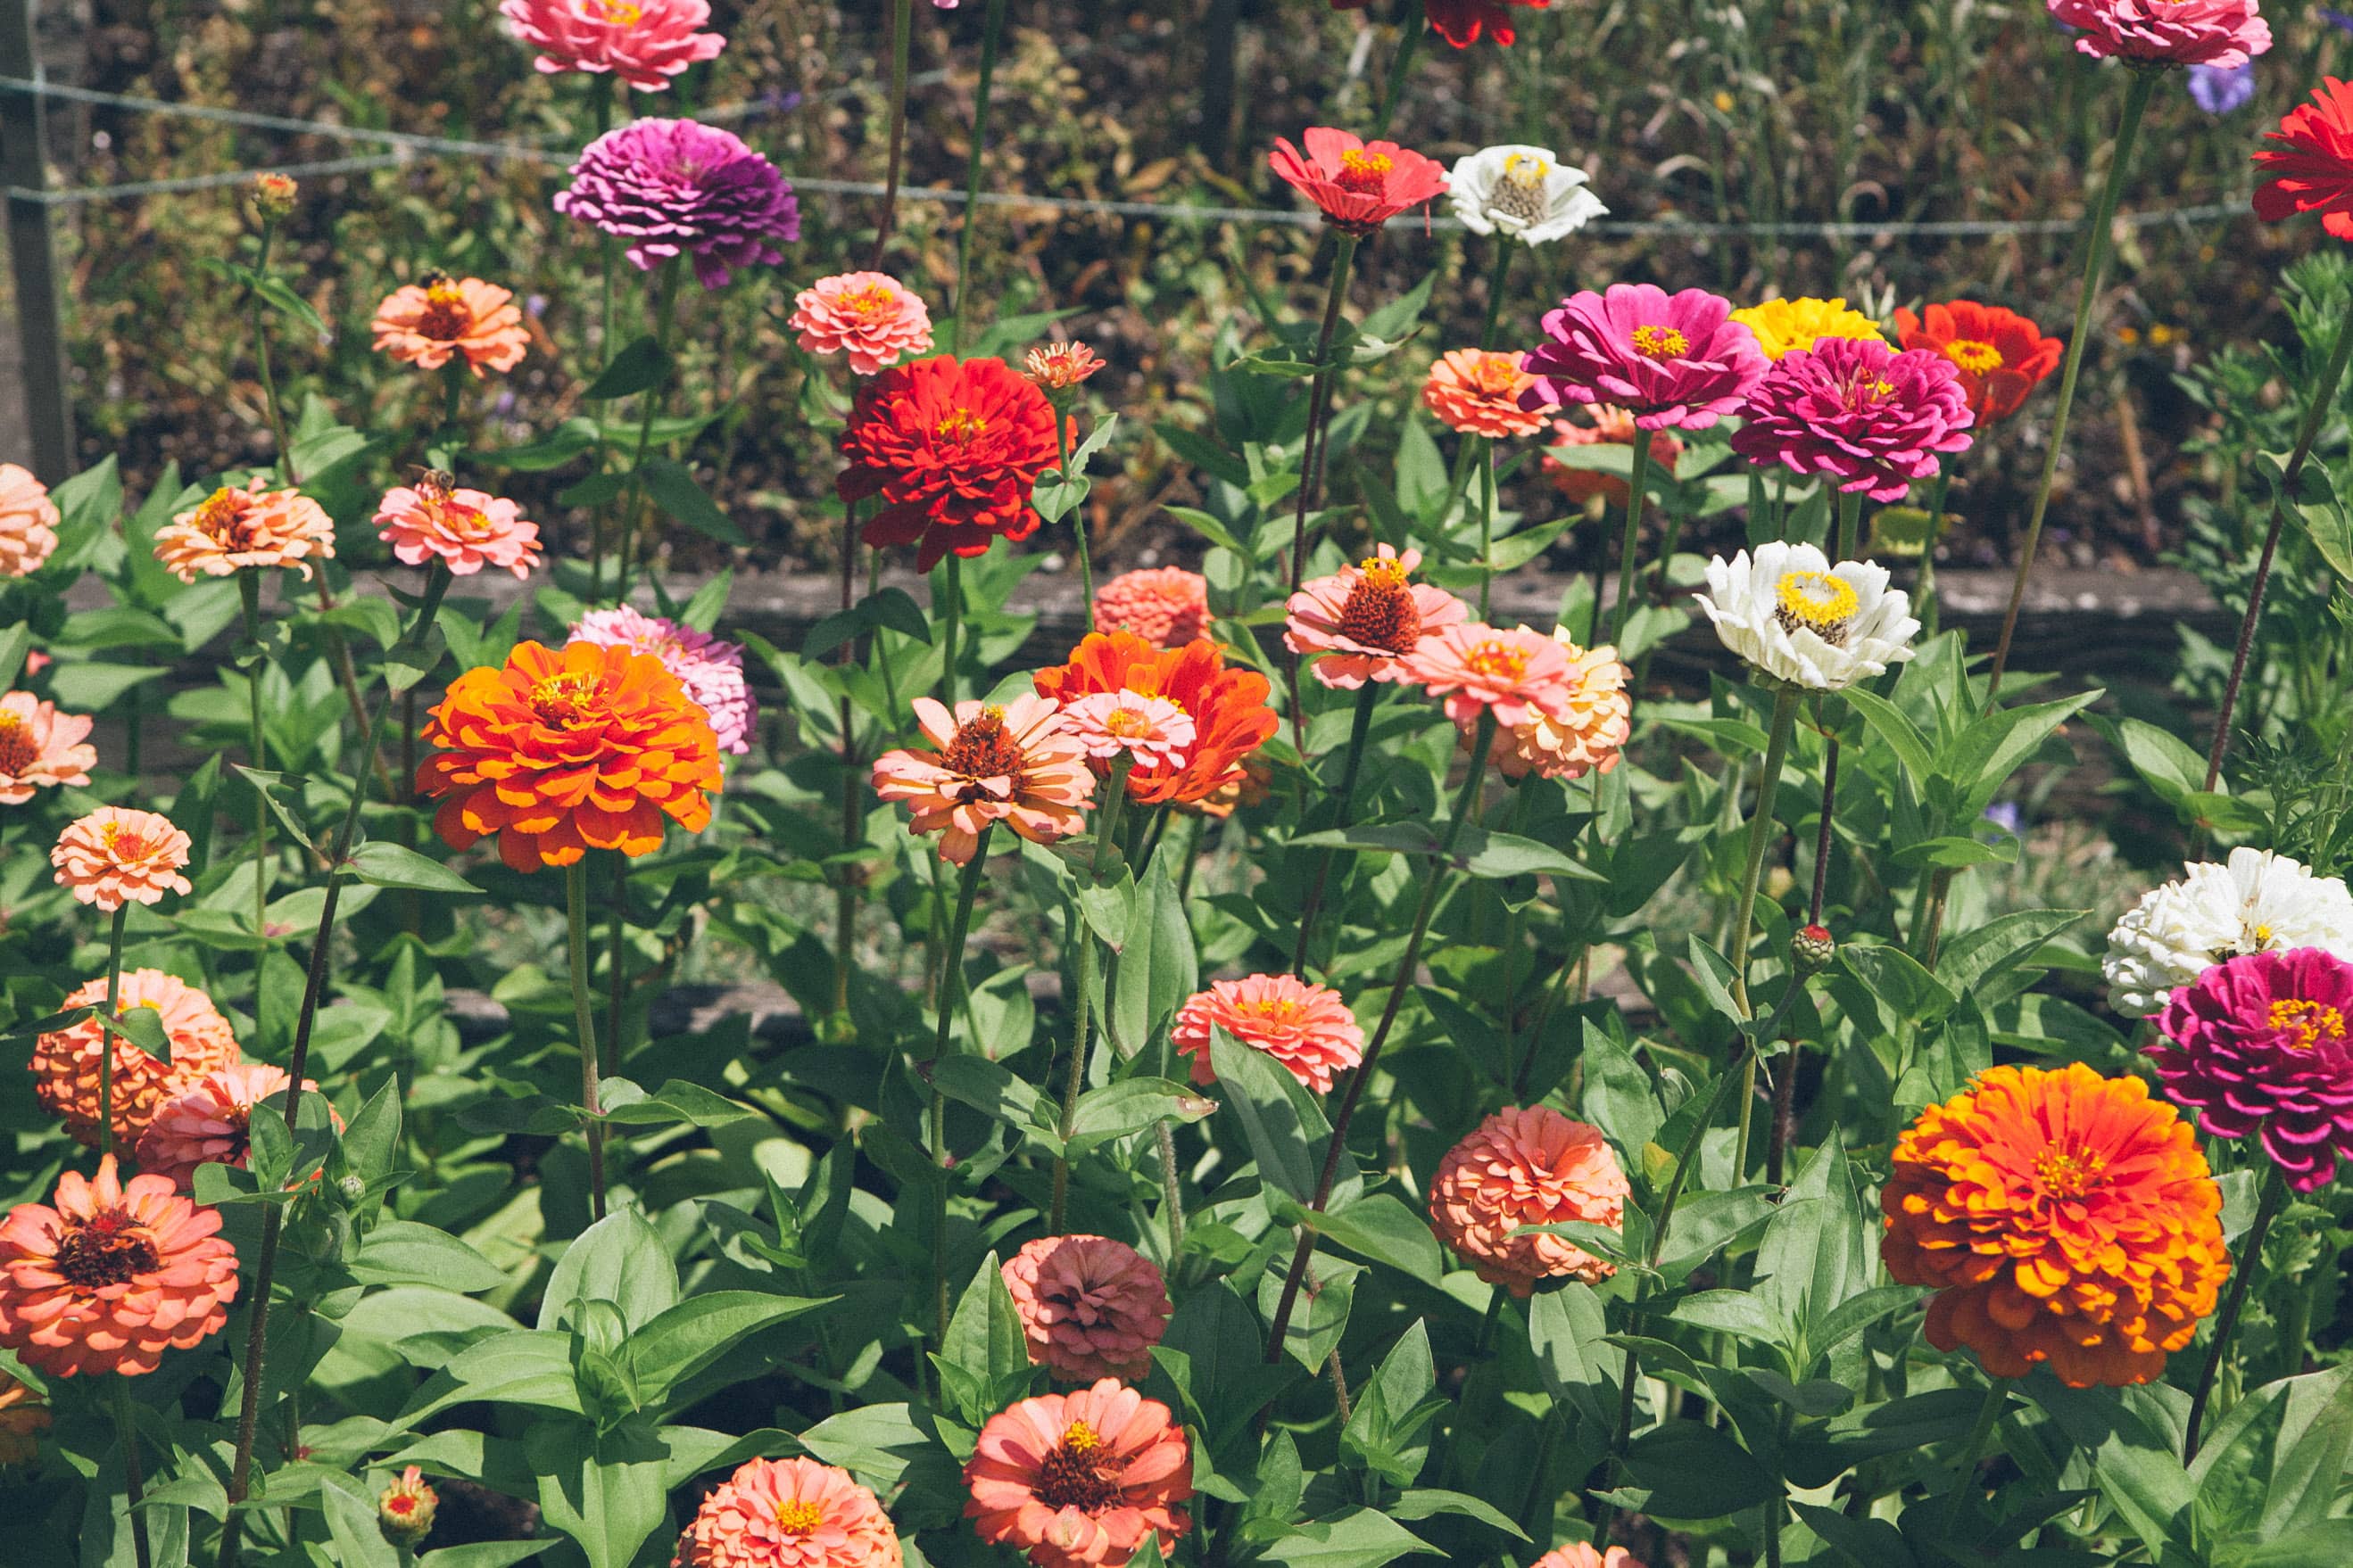
[[[106,978],[78,985],[59,1011],[106,1006]],[[115,1048],[115,1145],[136,1147],[155,1110],[212,1072],[238,1065],[238,1037],[212,997],[160,969],[132,969],[115,992],[115,1016],[155,1009],[172,1060],[153,1056],[99,1027],[96,1018],[52,1030],[33,1041],[33,1098],[66,1124],[78,1143],[99,1143],[99,1051]]]

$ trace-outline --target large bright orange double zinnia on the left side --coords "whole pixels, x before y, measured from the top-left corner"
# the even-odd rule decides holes
[[[701,703],[659,658],[593,642],[525,642],[459,675],[424,738],[440,748],[416,766],[416,792],[440,802],[433,830],[449,849],[496,835],[518,872],[652,853],[668,823],[701,832],[720,788]]]

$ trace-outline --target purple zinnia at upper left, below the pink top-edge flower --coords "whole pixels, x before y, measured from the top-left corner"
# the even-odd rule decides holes
[[[776,242],[800,237],[800,207],[776,165],[694,120],[605,132],[572,165],[555,212],[631,240],[640,270],[692,254],[706,289],[725,287],[732,268],[784,261]]]

